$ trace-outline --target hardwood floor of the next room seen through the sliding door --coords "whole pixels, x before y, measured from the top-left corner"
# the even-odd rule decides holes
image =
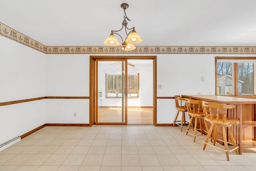
[[[122,107],[98,107],[98,122],[120,122]],[[128,124],[153,124],[153,107],[128,107]]]

